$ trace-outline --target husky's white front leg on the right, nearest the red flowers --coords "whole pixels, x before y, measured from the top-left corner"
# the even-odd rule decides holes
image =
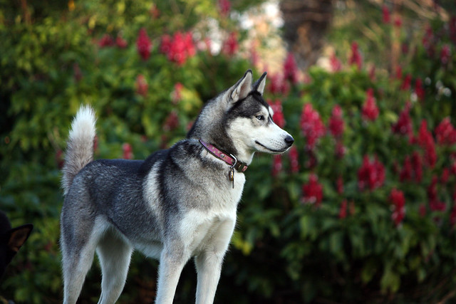
[[[197,304],[214,302],[215,291],[222,271],[223,258],[227,252],[233,230],[234,221],[222,222],[215,232],[211,243],[207,244],[207,248],[195,257],[195,266],[198,273]]]

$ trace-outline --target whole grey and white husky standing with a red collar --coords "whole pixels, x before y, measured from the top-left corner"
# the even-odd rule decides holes
[[[95,251],[98,303],[115,303],[133,249],[160,259],[155,303],[172,303],[185,263],[195,257],[196,303],[212,303],[236,223],[244,171],[254,152],[279,154],[293,137],[262,98],[266,73],[247,70],[209,100],[187,139],[145,160],[93,160],[95,114],[73,120],[63,167],[61,212],[64,303],[76,303]]]

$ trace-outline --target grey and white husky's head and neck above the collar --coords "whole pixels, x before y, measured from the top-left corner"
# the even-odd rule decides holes
[[[283,153],[293,137],[274,123],[271,107],[264,101],[266,73],[252,84],[252,70],[231,88],[204,106],[189,138],[201,138],[225,152],[251,162],[254,152]]]

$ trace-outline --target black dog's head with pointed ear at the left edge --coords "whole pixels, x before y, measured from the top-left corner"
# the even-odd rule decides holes
[[[11,259],[28,239],[32,229],[32,224],[25,224],[11,229],[6,214],[0,211],[0,278],[3,276]]]

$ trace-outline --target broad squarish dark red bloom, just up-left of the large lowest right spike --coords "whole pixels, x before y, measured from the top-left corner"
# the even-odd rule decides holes
[[[364,190],[369,187],[369,189],[374,190],[383,186],[383,182],[385,182],[385,167],[376,157],[371,160],[365,155],[363,164],[358,170],[359,189]]]

